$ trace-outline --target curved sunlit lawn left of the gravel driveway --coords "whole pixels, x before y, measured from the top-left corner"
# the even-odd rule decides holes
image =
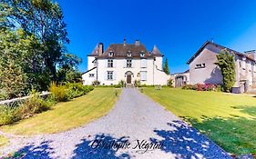
[[[118,90],[118,94],[121,90]],[[52,134],[87,124],[108,114],[118,97],[115,88],[95,88],[90,93],[66,103],[53,106],[53,110],[22,120],[17,124],[2,126],[10,134]]]

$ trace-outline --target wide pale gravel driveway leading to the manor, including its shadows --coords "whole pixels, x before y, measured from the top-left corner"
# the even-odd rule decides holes
[[[24,158],[230,158],[135,88],[124,89],[113,110],[90,124],[14,137],[0,154],[13,151],[24,152]]]

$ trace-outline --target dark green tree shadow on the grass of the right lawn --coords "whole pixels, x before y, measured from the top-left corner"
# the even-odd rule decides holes
[[[240,109],[244,114],[250,114],[251,118],[231,115],[232,117],[225,118],[201,116],[201,122],[190,117],[183,119],[231,154],[256,154],[256,107],[234,106],[233,108]]]

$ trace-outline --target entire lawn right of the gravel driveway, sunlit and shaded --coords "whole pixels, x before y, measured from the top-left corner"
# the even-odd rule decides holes
[[[246,94],[144,88],[167,110],[232,154],[256,153],[256,98]]]

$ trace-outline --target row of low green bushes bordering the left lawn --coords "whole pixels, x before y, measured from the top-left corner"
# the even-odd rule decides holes
[[[51,108],[56,102],[63,102],[73,99],[77,96],[87,94],[94,89],[90,85],[82,84],[51,84],[50,91],[52,94],[42,98],[40,94],[32,90],[31,97],[22,102],[22,104],[0,105],[0,126],[13,124],[18,120],[25,119],[40,114]]]

